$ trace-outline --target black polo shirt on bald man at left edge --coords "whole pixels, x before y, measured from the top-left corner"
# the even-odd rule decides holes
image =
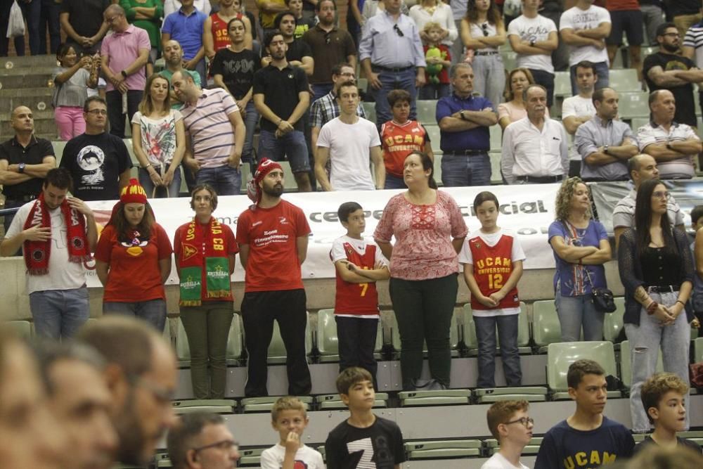
[[[22,162],[26,165],[41,165],[45,156],[55,156],[53,146],[50,141],[35,136],[32,136],[27,148],[22,148],[15,137],[0,145],[0,160],[7,160],[8,165],[19,165]],[[43,178],[33,177],[20,184],[5,184],[2,193],[8,200],[18,200],[25,195],[39,195],[42,184]]]

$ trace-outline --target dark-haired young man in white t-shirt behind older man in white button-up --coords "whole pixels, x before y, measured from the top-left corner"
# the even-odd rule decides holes
[[[576,85],[579,86],[579,94],[566,98],[562,103],[562,124],[569,134],[569,177],[581,174],[581,155],[573,145],[573,138],[579,126],[595,115],[591,97],[597,80],[593,63],[587,60],[577,63]]]

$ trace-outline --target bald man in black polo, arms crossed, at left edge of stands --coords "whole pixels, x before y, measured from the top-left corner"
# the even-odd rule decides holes
[[[5,208],[18,208],[37,198],[49,169],[56,167],[51,142],[34,136],[34,116],[27,106],[12,111],[15,136],[0,145],[0,184]],[[5,215],[7,233],[15,214]]]

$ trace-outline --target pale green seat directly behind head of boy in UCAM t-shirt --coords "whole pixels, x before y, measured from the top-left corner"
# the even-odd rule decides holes
[[[547,384],[555,400],[569,399],[567,371],[579,359],[591,359],[605,369],[606,375],[617,376],[612,342],[558,342],[547,348]],[[620,397],[620,392],[608,392],[608,397]]]

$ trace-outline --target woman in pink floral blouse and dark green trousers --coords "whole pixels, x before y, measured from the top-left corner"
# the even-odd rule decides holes
[[[383,255],[390,259],[390,295],[400,330],[404,390],[418,386],[423,341],[427,342],[432,380],[439,387],[449,387],[457,254],[468,229],[454,199],[437,191],[432,169],[427,155],[408,155],[403,171],[408,191],[389,200],[373,233]]]

